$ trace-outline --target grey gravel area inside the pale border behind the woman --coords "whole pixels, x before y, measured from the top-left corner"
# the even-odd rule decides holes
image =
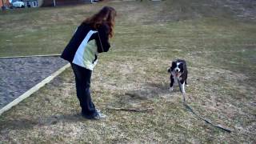
[[[0,109],[66,63],[59,57],[0,59]]]

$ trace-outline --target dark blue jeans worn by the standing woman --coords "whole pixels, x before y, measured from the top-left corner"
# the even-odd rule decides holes
[[[96,113],[96,109],[90,97],[90,77],[91,70],[71,63],[74,71],[77,96],[82,108],[82,114],[90,117]]]

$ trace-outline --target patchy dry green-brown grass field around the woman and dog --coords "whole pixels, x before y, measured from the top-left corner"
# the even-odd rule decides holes
[[[80,115],[74,75],[66,70],[0,116],[3,143],[254,143],[256,142],[256,4],[253,1],[102,2],[7,11],[0,15],[0,56],[59,54],[74,29],[102,6],[118,11],[111,50],[92,78],[101,121]],[[190,106],[167,68],[188,62]],[[108,107],[145,109],[136,113]]]

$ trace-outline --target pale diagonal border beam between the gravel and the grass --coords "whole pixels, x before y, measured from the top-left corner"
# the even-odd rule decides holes
[[[42,88],[42,86],[45,86],[46,83],[49,83],[50,81],[52,81],[55,77],[57,77],[59,74],[62,74],[62,72],[64,70],[66,70],[67,68],[70,67],[70,63],[66,64],[65,66],[62,66],[62,68],[58,69],[57,71],[55,71],[53,74],[50,74],[49,77],[45,78],[44,80],[42,80],[42,82],[39,82],[37,85],[35,85],[34,87],[32,87],[30,90],[27,90],[24,94],[20,95],[18,98],[14,99],[13,102],[10,102],[8,105],[4,106],[1,110],[0,110],[0,115],[2,113],[4,113],[7,110],[10,110],[11,107],[17,105],[19,102],[22,102],[22,100],[24,100],[25,98],[30,97],[31,94],[34,94],[34,92],[38,91],[40,88]]]

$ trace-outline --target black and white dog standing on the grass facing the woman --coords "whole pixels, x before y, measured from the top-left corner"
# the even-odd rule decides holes
[[[180,90],[182,94],[185,94],[185,85],[187,78],[186,61],[182,59],[177,59],[172,62],[170,68],[168,69],[170,73],[170,91],[174,90],[174,82],[181,82]]]

